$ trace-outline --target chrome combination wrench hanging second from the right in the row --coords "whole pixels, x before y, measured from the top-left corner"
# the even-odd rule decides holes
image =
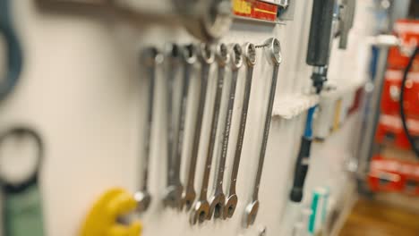
[[[240,157],[242,156],[242,148],[244,141],[244,131],[246,130],[247,111],[249,108],[249,99],[252,89],[253,67],[256,63],[256,48],[251,43],[244,45],[244,58],[247,63],[246,84],[244,88],[244,101],[242,106],[242,114],[240,117],[240,125],[238,131],[238,139],[235,145],[235,159],[233,161],[233,168],[230,176],[230,185],[224,207],[224,219],[231,218],[235,214],[235,207],[237,206],[237,194],[235,193],[235,184],[237,181],[237,173],[240,164]]]

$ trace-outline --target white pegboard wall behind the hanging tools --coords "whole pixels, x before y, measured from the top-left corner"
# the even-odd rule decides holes
[[[286,25],[235,21],[232,30],[222,39],[226,43],[240,44],[247,41],[261,44],[270,37],[280,40],[283,63],[278,75],[277,101],[301,94],[310,86],[312,69],[305,64],[305,51],[311,4],[312,1],[297,1],[294,21],[286,21]],[[47,145],[41,178],[47,235],[77,235],[92,202],[104,190],[122,186],[134,191],[138,186],[141,165],[139,152],[144,142],[141,129],[148,91],[147,78],[143,76],[138,63],[138,49],[150,45],[162,47],[167,41],[188,43],[193,39],[177,28],[155,25],[151,28],[139,22],[129,24],[115,17],[99,18],[94,14],[39,11],[34,1],[13,1],[13,15],[24,49],[25,64],[19,85],[11,97],[2,103],[0,122],[3,128],[14,122],[27,122],[41,132]],[[365,17],[357,14],[355,27],[365,24]],[[363,38],[368,33],[368,30],[364,30],[351,38]],[[272,73],[272,67],[266,63],[261,50],[258,50],[257,56],[244,155],[237,181],[239,204],[235,216],[227,221],[192,227],[188,223],[189,215],[163,209],[160,204],[165,186],[166,157],[162,145],[165,137],[164,78],[158,79],[159,92],[155,103],[159,105],[153,127],[150,173],[153,205],[141,218],[144,223],[143,235],[257,235],[261,226],[267,227],[268,235],[289,230],[290,225],[281,224],[281,221],[286,218],[286,207],[289,205],[288,189],[292,183],[304,115],[292,120],[273,119],[261,178],[259,215],[254,226],[247,230],[241,223],[256,171]],[[353,57],[342,56],[338,60],[345,60],[346,64],[356,63]],[[333,66],[342,65],[332,63]],[[236,142],[244,71],[243,68],[239,72],[226,179],[231,170]],[[351,80],[358,76],[357,69],[348,70],[341,76]],[[212,73],[209,97],[214,94],[214,78],[215,74]],[[197,79],[194,77],[192,80]],[[194,96],[196,94],[192,93]],[[206,105],[201,139],[204,143],[208,139],[210,106],[210,103]],[[225,103],[221,109],[225,110]],[[193,120],[191,109],[189,112],[187,127],[191,127]],[[338,158],[336,161],[339,163],[346,156],[336,157],[333,150],[339,153],[349,151],[345,137],[350,137],[350,128],[355,124],[348,122],[346,125],[347,129],[333,135],[336,142],[314,145],[314,167],[308,175],[307,193],[320,184],[329,183],[333,188],[344,182],[335,183],[330,181],[334,175],[324,176],[321,173],[329,173],[323,167],[335,168],[328,164],[329,158]],[[191,147],[191,129],[187,133],[188,146],[184,148],[185,152]],[[196,187],[200,185],[205,149],[206,145],[200,150]],[[331,173],[341,175],[338,171]]]

